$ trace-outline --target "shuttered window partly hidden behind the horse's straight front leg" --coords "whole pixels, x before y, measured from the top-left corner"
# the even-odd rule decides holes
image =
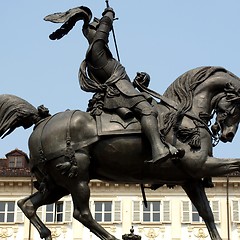
[[[210,207],[213,212],[215,222],[219,222],[219,201],[210,201]],[[203,223],[203,219],[195,206],[190,201],[182,202],[182,222],[183,223]]]

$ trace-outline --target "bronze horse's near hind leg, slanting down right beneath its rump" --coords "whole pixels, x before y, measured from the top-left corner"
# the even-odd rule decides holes
[[[90,188],[88,186],[88,166],[89,158],[85,154],[76,154],[78,162],[79,175],[76,179],[72,179],[68,187],[72,195],[74,212],[73,217],[87,227],[91,232],[102,240],[117,240],[108,233],[100,224],[92,217],[89,209]]]

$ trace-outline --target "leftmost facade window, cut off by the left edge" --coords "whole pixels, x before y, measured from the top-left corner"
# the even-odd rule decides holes
[[[15,202],[0,201],[0,222],[14,222]]]

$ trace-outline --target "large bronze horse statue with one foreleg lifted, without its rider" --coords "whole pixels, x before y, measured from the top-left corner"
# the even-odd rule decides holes
[[[0,135],[35,124],[29,138],[31,170],[38,189],[18,202],[41,238],[51,232],[36,210],[71,194],[73,216],[102,240],[117,240],[92,217],[91,179],[117,183],[181,185],[197,208],[211,239],[221,237],[214,224],[203,178],[240,171],[240,159],[212,156],[212,138],[231,142],[240,121],[240,80],[220,67],[201,67],[181,75],[155,104],[166,142],[185,150],[181,159],[149,164],[151,147],[141,133],[98,136],[96,120],[80,110],[53,116],[13,95],[0,95]],[[208,122],[216,113],[212,131]],[[128,151],[126,151],[128,149]],[[116,167],[117,166],[117,167]]]

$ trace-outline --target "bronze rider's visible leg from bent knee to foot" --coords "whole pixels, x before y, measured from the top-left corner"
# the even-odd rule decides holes
[[[170,152],[169,147],[161,141],[158,131],[157,111],[154,111],[147,101],[138,103],[134,111],[140,115],[143,133],[148,138],[152,147],[152,160],[150,162],[163,162],[178,152],[173,146],[171,146]]]

